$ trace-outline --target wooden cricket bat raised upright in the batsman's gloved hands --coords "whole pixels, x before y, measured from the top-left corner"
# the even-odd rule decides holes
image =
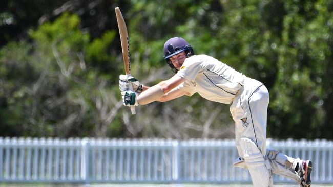
[[[125,24],[125,20],[122,17],[119,7],[116,7],[114,10],[116,11],[116,17],[117,17],[117,22],[118,22],[121,49],[122,49],[122,58],[123,58],[123,64],[125,67],[125,73],[126,73],[127,77],[129,77],[129,76],[131,76],[129,35],[127,33],[127,27]],[[131,86],[131,84],[130,84],[130,86]],[[130,90],[132,90],[132,87],[130,87]],[[131,106],[131,112],[133,115],[136,113],[135,106]]]

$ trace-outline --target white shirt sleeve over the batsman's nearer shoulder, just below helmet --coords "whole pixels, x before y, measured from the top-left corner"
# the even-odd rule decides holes
[[[176,75],[191,81],[195,79],[199,72],[203,71],[203,68],[202,60],[198,56],[192,56],[185,59]]]

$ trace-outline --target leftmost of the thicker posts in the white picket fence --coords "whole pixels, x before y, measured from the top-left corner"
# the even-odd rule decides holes
[[[81,142],[81,178],[85,184],[89,184],[89,141],[87,138]]]

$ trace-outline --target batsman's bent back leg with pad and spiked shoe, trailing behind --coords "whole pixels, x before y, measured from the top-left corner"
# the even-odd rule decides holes
[[[278,152],[273,150],[267,150],[269,152],[264,150],[266,149],[266,116],[268,102],[268,91],[265,86],[260,86],[251,96],[249,96],[248,102],[243,104],[245,112],[247,112],[248,107],[257,146],[263,155],[266,156],[266,160],[268,159],[273,173],[294,179],[301,186],[310,186],[310,174],[312,170],[312,162],[310,160],[301,160],[299,158],[294,159],[281,153],[277,154]],[[251,131],[244,131],[243,134],[251,134]],[[275,159],[272,159],[274,157]],[[280,167],[281,165],[283,167]]]

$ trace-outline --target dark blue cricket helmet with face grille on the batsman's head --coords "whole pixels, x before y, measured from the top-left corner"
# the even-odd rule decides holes
[[[172,71],[177,73],[177,68],[169,60],[170,57],[185,51],[186,57],[194,55],[192,46],[181,37],[173,37],[164,43],[164,56],[166,63],[171,67]]]

